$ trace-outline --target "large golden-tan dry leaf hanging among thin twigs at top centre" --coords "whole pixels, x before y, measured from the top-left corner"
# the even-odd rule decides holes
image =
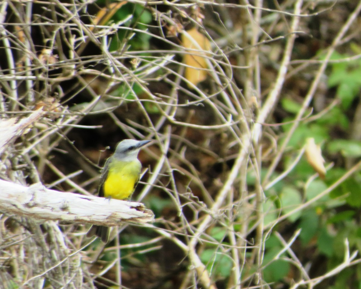
[[[182,34],[182,44],[187,52],[183,58],[184,64],[187,65],[184,76],[193,85],[197,85],[207,77],[207,71],[204,70],[204,68],[207,68],[205,56],[210,51],[210,42],[206,36],[198,32],[196,27],[188,30],[187,33],[188,35]],[[198,46],[194,42],[198,43]],[[202,51],[188,50],[200,50],[199,47]],[[189,84],[188,86],[191,87]]]

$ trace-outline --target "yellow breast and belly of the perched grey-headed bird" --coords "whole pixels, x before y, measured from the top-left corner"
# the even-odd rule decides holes
[[[112,162],[104,182],[104,197],[118,200],[129,198],[138,181],[140,169],[141,164],[138,160],[126,163]]]

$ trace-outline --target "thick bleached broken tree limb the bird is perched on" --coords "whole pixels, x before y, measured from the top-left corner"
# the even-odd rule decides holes
[[[154,219],[142,203],[106,199],[30,187],[0,180],[0,211],[44,220],[117,226],[123,222],[147,223]]]

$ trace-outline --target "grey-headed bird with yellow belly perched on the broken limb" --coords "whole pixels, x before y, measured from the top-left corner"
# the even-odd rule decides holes
[[[131,197],[138,184],[142,164],[138,160],[140,149],[147,143],[134,139],[123,139],[117,144],[115,152],[106,161],[100,176],[98,196],[125,200]],[[109,228],[92,225],[87,237],[96,235],[104,243],[109,240]]]

